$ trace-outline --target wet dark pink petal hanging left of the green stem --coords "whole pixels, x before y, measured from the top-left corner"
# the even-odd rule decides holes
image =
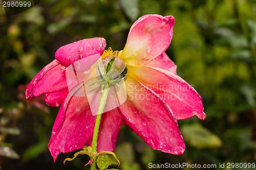
[[[91,143],[95,118],[87,98],[68,94],[55,119],[48,144],[54,161],[60,153],[71,152]]]

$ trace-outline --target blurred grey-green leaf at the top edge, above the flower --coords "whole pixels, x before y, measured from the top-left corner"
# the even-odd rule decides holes
[[[124,13],[132,21],[135,21],[139,15],[139,0],[121,0],[120,2]]]

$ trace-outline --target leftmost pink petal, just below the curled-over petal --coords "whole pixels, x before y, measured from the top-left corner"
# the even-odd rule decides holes
[[[57,92],[65,88],[67,88],[65,70],[61,68],[57,60],[53,60],[29,83],[26,98],[31,100],[41,94]]]

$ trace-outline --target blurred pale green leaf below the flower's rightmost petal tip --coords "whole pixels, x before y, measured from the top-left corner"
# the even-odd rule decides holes
[[[202,127],[201,124],[184,125],[181,128],[181,133],[185,141],[199,149],[220,147],[222,145],[221,139]]]

